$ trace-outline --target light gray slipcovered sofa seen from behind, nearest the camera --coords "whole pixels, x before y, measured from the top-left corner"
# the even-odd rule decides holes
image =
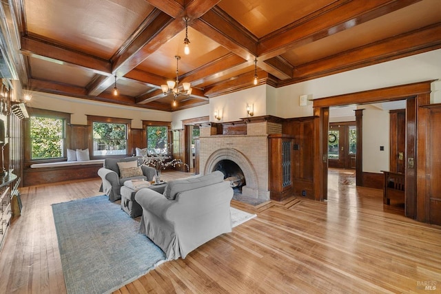
[[[223,173],[170,181],[163,194],[144,188],[135,195],[143,209],[140,233],[167,255],[188,253],[216,236],[232,231],[229,205],[233,189]]]

